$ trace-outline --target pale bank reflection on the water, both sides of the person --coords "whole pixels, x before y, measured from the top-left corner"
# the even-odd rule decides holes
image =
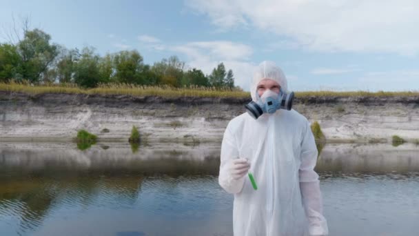
[[[144,175],[218,175],[220,147],[201,144],[139,146],[98,144],[77,150],[74,144],[1,144],[0,173],[88,171]],[[138,148],[138,149],[137,149]],[[404,144],[327,144],[318,157],[319,172],[409,173],[419,171],[419,146]],[[19,170],[19,171],[18,171]]]

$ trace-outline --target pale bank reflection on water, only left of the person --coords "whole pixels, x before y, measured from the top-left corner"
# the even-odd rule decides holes
[[[105,146],[106,148],[103,148]],[[0,144],[0,173],[142,173],[218,175],[219,146],[141,146],[102,144],[77,150],[71,144]],[[66,174],[67,175],[67,174]]]

